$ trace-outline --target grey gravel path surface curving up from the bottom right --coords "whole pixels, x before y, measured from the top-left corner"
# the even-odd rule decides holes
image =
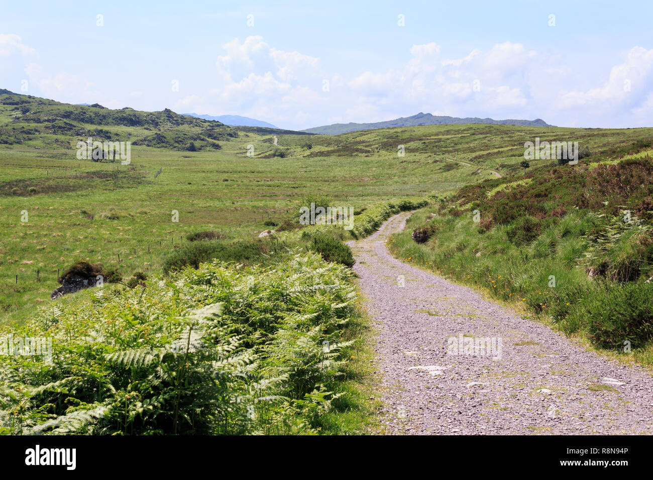
[[[387,433],[653,433],[648,372],[392,257],[385,242],[409,215],[349,243],[377,329]]]

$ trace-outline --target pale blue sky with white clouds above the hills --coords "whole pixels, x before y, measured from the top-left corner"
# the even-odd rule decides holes
[[[290,129],[417,112],[653,126],[650,1],[0,1],[0,12],[0,88],[57,101]]]

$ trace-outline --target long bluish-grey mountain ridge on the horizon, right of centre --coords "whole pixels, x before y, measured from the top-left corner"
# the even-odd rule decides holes
[[[319,133],[322,135],[340,135],[341,133],[356,132],[359,130],[385,129],[392,127],[415,127],[417,125],[446,125],[460,123],[490,123],[491,125],[528,125],[530,127],[552,127],[544,120],[492,120],[491,118],[456,118],[449,116],[434,116],[419,112],[411,117],[396,118],[395,120],[377,121],[376,123],[334,123],[322,127],[313,127],[302,132]]]

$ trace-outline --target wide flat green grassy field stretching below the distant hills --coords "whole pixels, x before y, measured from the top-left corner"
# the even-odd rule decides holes
[[[580,138],[598,153],[651,135],[441,125],[338,137],[279,134],[275,148],[272,135],[260,130],[246,129],[219,150],[133,146],[131,165],[80,161],[71,140],[71,148],[47,148],[37,140],[0,145],[2,321],[49,302],[57,270],[80,259],[125,275],[157,273],[161,259],[185,234],[217,229],[227,238],[253,238],[266,228],[264,221],[298,209],[309,194],[328,194],[336,204],[364,208],[406,196],[451,193],[494,178],[490,170],[518,174],[524,138]],[[253,157],[247,156],[250,145]],[[398,145],[404,145],[404,157],[398,156]],[[286,156],[273,156],[280,151]],[[550,163],[534,161],[532,168]],[[28,192],[30,187],[35,193]],[[178,222],[172,221],[173,211]]]

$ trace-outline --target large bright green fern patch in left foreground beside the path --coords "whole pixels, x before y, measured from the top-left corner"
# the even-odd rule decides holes
[[[0,432],[316,432],[343,376],[351,278],[293,252],[43,310],[13,334],[52,338],[52,360],[0,357]]]

